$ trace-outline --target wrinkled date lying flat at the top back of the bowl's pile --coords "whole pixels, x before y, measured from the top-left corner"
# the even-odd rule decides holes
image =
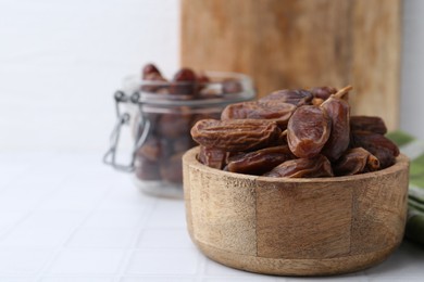
[[[296,106],[310,105],[312,103],[313,95],[310,91],[304,89],[284,89],[272,92],[258,100],[259,103],[266,103],[270,101],[279,103],[289,103]]]

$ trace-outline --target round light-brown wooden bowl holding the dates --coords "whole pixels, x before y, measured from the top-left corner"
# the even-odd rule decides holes
[[[400,244],[409,161],[358,176],[289,179],[233,174],[183,157],[188,231],[211,259],[247,271],[327,275],[361,270]]]

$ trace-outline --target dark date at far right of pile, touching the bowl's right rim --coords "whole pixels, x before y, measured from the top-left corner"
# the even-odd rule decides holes
[[[399,148],[386,137],[370,131],[352,131],[351,146],[362,146],[379,161],[381,168],[386,168],[396,163]]]

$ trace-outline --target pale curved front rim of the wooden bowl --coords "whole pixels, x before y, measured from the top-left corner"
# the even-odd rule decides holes
[[[183,167],[185,165],[196,167],[199,170],[202,170],[207,174],[212,174],[212,175],[222,175],[223,177],[232,177],[232,178],[244,178],[244,179],[250,179],[250,180],[261,180],[264,182],[270,182],[270,183],[282,183],[282,182],[287,182],[287,183],[310,183],[310,182],[316,182],[316,183],[323,183],[323,182],[347,182],[347,181],[358,181],[358,180],[366,180],[370,178],[375,178],[375,177],[383,177],[386,175],[391,175],[397,171],[401,171],[403,169],[409,169],[410,161],[408,156],[404,154],[400,153],[396,157],[396,163],[387,168],[372,171],[372,172],[365,172],[365,174],[359,174],[359,175],[353,175],[353,176],[339,176],[339,177],[320,177],[320,178],[288,178],[288,177],[265,177],[265,176],[253,176],[253,175],[244,175],[244,174],[237,174],[237,172],[229,172],[225,170],[220,170],[216,168],[209,167],[207,165],[201,164],[197,159],[197,154],[199,153],[200,146],[195,146],[190,150],[188,150],[184,155],[183,155]]]

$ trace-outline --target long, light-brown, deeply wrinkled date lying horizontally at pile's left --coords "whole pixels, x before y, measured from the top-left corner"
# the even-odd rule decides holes
[[[227,152],[247,152],[265,148],[282,133],[275,121],[266,119],[202,119],[191,128],[199,144]]]

